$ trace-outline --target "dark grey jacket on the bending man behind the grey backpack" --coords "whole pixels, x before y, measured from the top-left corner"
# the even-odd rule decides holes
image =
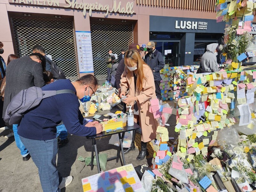
[[[3,114],[12,98],[21,90],[33,86],[43,87],[45,85],[42,65],[33,61],[27,55],[12,60],[8,64],[5,78],[6,87],[4,91]]]

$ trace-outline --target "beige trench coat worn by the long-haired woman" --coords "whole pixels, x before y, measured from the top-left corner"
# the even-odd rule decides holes
[[[156,128],[158,126],[158,122],[154,118],[153,113],[149,112],[150,100],[156,99],[156,88],[152,70],[148,67],[148,65],[143,65],[143,72],[146,77],[145,80],[143,81],[143,90],[134,90],[135,86],[133,72],[129,71],[129,69],[127,69],[127,67],[125,66],[124,73],[121,76],[122,79],[120,83],[120,88],[121,92],[127,92],[127,89],[129,88],[128,95],[131,95],[132,97],[137,96],[137,105],[140,116],[140,127],[142,131],[141,140],[143,142],[148,142],[153,139],[156,139]],[[127,73],[131,74],[130,79],[128,79]],[[134,103],[129,103],[126,105],[132,105],[133,110]]]

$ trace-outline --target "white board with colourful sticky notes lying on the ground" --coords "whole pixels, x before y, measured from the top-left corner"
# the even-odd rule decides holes
[[[145,192],[132,164],[82,179],[84,192]]]

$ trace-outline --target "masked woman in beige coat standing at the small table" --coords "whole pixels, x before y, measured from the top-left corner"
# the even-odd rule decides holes
[[[134,115],[134,118],[136,121],[136,118],[139,117],[142,131],[141,151],[137,157],[137,160],[140,161],[147,154],[147,142],[156,139],[158,123],[153,114],[149,112],[150,100],[156,99],[156,88],[152,70],[141,59],[140,53],[137,50],[131,49],[126,52],[124,64],[124,73],[121,76],[120,83],[120,96],[124,96],[129,89],[127,98],[123,102],[127,106],[132,106],[132,110],[139,110],[139,116]],[[130,148],[135,148],[134,141]]]

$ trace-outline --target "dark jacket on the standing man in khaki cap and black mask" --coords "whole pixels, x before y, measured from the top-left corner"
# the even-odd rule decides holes
[[[152,69],[154,80],[155,81],[161,81],[160,76],[160,70],[164,68],[164,58],[162,56],[162,53],[155,51],[152,54],[147,54],[144,59],[145,63],[148,64],[148,66]],[[155,72],[154,72],[155,70]]]

